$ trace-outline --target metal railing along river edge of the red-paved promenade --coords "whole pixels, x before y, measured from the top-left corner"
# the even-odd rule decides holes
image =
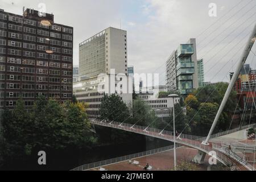
[[[179,146],[180,145],[178,145],[178,147]],[[110,165],[110,164],[114,164],[114,163],[118,163],[118,162],[123,162],[125,160],[131,160],[131,159],[135,159],[135,158],[140,158],[142,156],[156,154],[158,152],[171,150],[172,148],[174,148],[173,145],[172,146],[161,147],[161,148],[155,148],[155,149],[152,149],[152,150],[148,150],[148,151],[144,151],[144,152],[138,152],[136,154],[125,155],[125,156],[121,156],[121,157],[117,157],[117,158],[113,158],[113,159],[102,160],[102,161],[99,161],[99,162],[84,164],[84,165],[81,165],[79,167],[71,169],[71,171],[85,171],[85,170],[89,170],[89,169],[93,169],[93,168],[97,168],[97,167],[101,167],[101,166],[106,166],[106,165]]]

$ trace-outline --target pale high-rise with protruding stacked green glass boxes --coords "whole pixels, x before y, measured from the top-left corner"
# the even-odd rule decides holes
[[[172,52],[166,61],[166,84],[168,91],[177,90],[184,96],[199,87],[196,39],[189,39]]]

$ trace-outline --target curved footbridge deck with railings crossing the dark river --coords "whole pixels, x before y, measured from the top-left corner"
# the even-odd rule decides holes
[[[174,142],[174,133],[171,131],[166,130],[159,130],[151,127],[144,127],[144,126],[138,126],[138,125],[131,125],[129,123],[119,123],[119,122],[107,122],[107,121],[100,121],[98,119],[90,119],[90,123],[93,125],[98,126],[104,126],[104,127],[110,127],[114,129],[119,129],[123,131],[129,131],[132,133],[142,134],[149,137],[159,138],[163,140],[168,140],[170,142]],[[213,137],[220,137],[221,135],[229,134],[238,130],[250,128],[253,125],[246,125],[241,127],[240,129],[233,129],[229,131],[222,132],[220,134],[214,134]],[[242,158],[240,158],[237,155],[234,155],[233,152],[230,154],[230,152],[225,152],[223,147],[221,146],[221,143],[211,143],[209,146],[201,144],[201,142],[206,137],[198,137],[194,135],[187,135],[187,134],[180,134],[179,137],[176,137],[176,143],[179,143],[183,146],[188,146],[192,148],[196,148],[197,150],[204,152],[205,154],[208,154],[210,156],[213,155],[213,153],[216,153],[216,159],[221,162],[222,164],[226,166],[237,166],[240,169],[247,169],[249,171],[254,171],[254,167],[251,166],[249,163],[244,161]],[[214,152],[213,152],[214,151]],[[194,161],[197,162],[197,161]]]

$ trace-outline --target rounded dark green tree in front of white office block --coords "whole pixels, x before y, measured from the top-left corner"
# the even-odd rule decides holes
[[[121,97],[115,94],[104,96],[101,102],[100,113],[102,119],[116,122],[123,122],[130,117],[129,108],[121,100]]]

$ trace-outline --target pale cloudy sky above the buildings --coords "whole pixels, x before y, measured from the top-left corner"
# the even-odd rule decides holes
[[[121,28],[127,31],[128,65],[135,73],[158,73],[160,84],[166,60],[190,38],[196,38],[197,59],[204,59],[205,81],[229,81],[256,23],[254,0],[0,0],[0,9],[22,15],[23,6],[39,10],[39,3],[56,23],[74,28],[74,65],[80,42],[110,26]],[[210,3],[216,16],[209,16]],[[246,63],[256,68],[256,56],[250,53]]]

